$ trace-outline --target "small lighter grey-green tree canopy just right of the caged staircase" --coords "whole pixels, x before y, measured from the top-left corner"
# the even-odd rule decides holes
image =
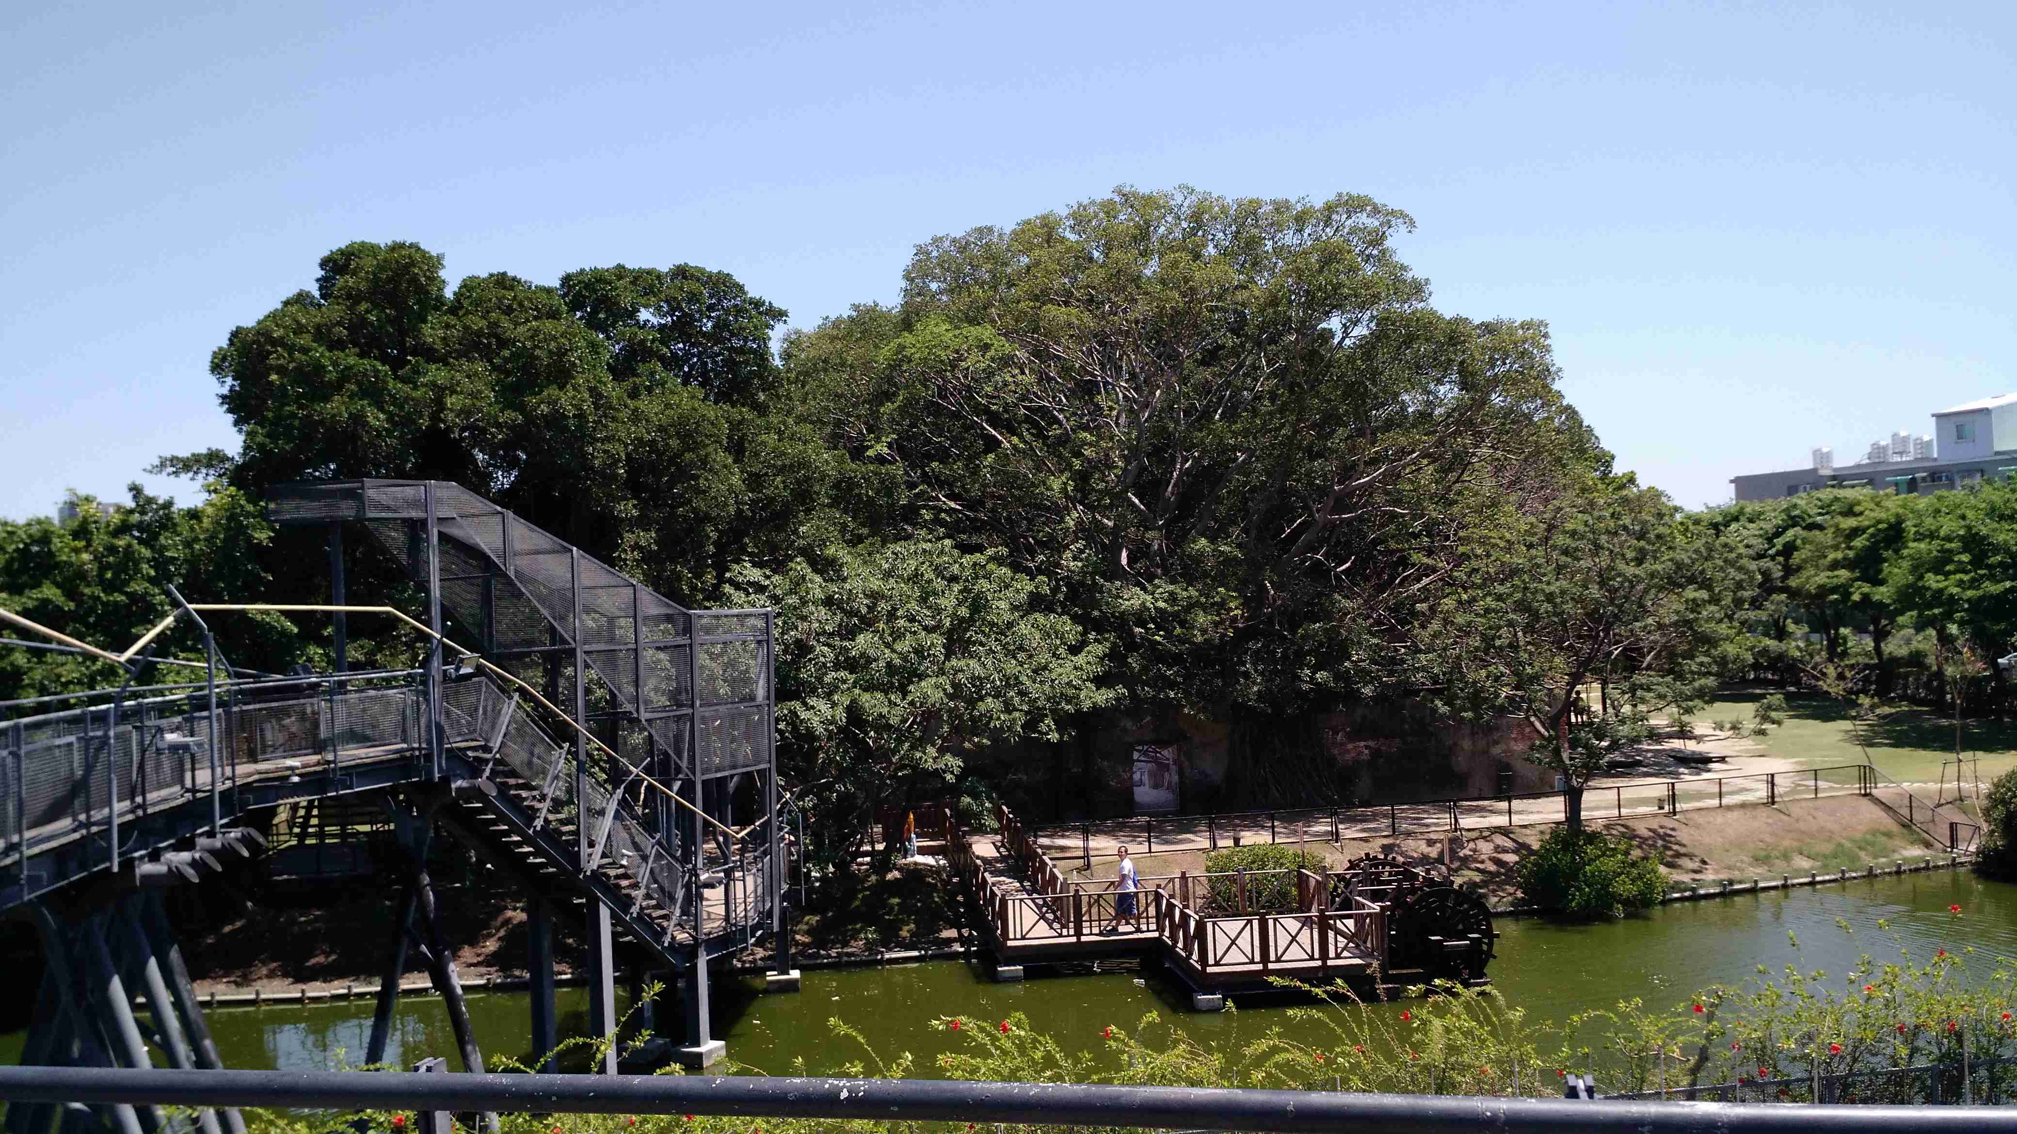
[[[777,607],[779,751],[823,864],[853,860],[875,807],[942,797],[992,745],[1057,741],[1111,702],[1103,644],[1002,559],[900,541],[738,577],[738,601]]]

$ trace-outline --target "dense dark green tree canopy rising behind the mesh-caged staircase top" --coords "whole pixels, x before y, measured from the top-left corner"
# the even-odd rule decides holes
[[[494,272],[454,293],[418,244],[357,242],[212,357],[236,456],[169,470],[250,492],[325,476],[468,484],[690,601],[803,533],[877,513],[817,434],[764,414],[785,311],[722,272],[587,268],[559,287]],[[847,506],[829,508],[831,498]]]

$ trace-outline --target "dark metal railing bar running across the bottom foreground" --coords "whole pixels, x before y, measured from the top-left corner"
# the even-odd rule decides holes
[[[442,1075],[0,1067],[0,1100],[286,1110],[706,1114],[1363,1134],[2017,1132],[2017,1108],[1775,1106],[766,1075]]]

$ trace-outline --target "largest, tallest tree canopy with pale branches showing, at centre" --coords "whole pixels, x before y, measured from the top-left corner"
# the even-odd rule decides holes
[[[1132,698],[1309,708],[1394,686],[1464,533],[1608,460],[1543,325],[1428,307],[1410,224],[1123,188],[920,246],[787,375],[914,527],[1055,579]]]

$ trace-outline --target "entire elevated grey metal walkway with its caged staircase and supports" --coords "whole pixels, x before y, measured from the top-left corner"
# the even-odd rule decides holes
[[[464,1069],[482,1069],[426,870],[436,827],[524,886],[537,1053],[555,1045],[549,920],[575,908],[587,920],[591,1033],[615,1035],[621,936],[647,969],[680,977],[680,1057],[718,1059],[708,960],[783,926],[770,611],[686,609],[456,484],[292,484],[268,515],[327,529],[329,603],[184,603],[119,656],[10,615],[121,666],[186,617],[210,668],[202,684],[40,698],[0,722],[0,912],[26,908],[42,924],[44,999],[63,1007],[34,1037],[38,1057],[147,1065],[147,1045],[123,1041],[141,1035],[129,997],[99,981],[131,981],[153,962],[119,946],[145,916],[145,890],[248,854],[262,841],[252,821],[262,809],[377,799],[405,882],[367,1061],[383,1055],[411,946],[448,1001]],[[347,603],[347,525],[420,585],[426,621]],[[337,672],[234,674],[204,619],[248,609],[327,613]],[[349,670],[353,613],[405,621],[426,662]],[[113,942],[99,950],[107,967],[58,973],[56,958],[79,948],[89,958],[99,940]],[[775,958],[789,967],[789,942]],[[175,997],[177,1013],[184,1001],[194,1005]],[[204,1029],[196,1009],[157,1027]],[[603,1069],[615,1069],[613,1049]],[[111,1118],[127,1134],[177,1124],[131,1108]]]

